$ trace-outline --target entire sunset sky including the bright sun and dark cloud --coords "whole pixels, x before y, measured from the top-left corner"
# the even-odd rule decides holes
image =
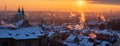
[[[110,11],[119,10],[120,0],[0,0],[0,10],[17,10],[19,5],[26,11]]]

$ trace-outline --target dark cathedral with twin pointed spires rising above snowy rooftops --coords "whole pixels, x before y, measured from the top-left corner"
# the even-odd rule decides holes
[[[29,26],[31,26],[30,24],[29,24],[29,20],[26,20],[25,19],[25,11],[24,11],[24,8],[22,7],[22,8],[18,8],[18,11],[17,11],[17,13],[15,14],[15,16],[14,16],[14,20],[13,20],[14,22],[14,25],[16,26],[16,27],[29,27]]]

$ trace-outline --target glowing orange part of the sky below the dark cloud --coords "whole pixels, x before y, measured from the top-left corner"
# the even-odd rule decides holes
[[[78,4],[78,0],[75,1],[52,1],[52,0],[0,0],[0,10],[4,9],[4,2],[6,2],[7,10],[17,10],[18,5],[24,6],[25,10],[35,11],[35,10],[54,10],[54,11],[104,11],[103,9],[110,10],[115,9],[118,10],[120,5],[108,5],[108,4],[90,4],[84,3],[84,5]]]

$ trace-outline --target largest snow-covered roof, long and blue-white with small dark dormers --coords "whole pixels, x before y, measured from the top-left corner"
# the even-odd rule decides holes
[[[0,38],[13,38],[19,40],[39,38],[39,36],[44,36],[44,32],[40,27],[35,26],[20,28],[16,30],[0,29],[0,35]]]

